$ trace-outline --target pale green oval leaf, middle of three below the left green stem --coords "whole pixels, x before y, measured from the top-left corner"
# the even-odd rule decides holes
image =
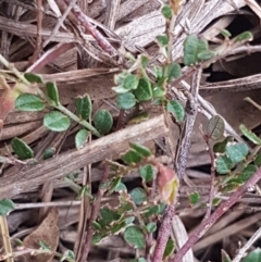
[[[70,124],[70,118],[58,111],[52,111],[44,117],[44,125],[52,132],[64,132]]]

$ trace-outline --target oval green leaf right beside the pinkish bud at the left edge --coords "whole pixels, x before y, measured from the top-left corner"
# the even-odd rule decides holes
[[[36,112],[45,109],[45,102],[32,93],[22,93],[15,100],[15,108],[21,111]]]

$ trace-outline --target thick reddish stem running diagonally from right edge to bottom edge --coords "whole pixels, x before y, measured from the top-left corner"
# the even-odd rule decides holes
[[[241,186],[237,191],[233,192],[231,197],[222,202],[217,209],[210,215],[208,220],[196,228],[185,245],[177,251],[171,262],[181,262],[184,254],[206,234],[206,232],[227,211],[233,207],[245,194],[245,191],[257,184],[261,178],[261,167]]]

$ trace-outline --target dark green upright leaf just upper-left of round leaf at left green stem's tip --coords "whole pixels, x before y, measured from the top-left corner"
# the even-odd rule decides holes
[[[77,115],[82,120],[89,121],[92,111],[92,104],[89,95],[77,97],[75,100]]]

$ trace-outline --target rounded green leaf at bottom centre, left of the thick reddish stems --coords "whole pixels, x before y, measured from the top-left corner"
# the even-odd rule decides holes
[[[144,233],[137,226],[127,227],[123,234],[123,237],[126,242],[134,246],[135,248],[145,248]]]

